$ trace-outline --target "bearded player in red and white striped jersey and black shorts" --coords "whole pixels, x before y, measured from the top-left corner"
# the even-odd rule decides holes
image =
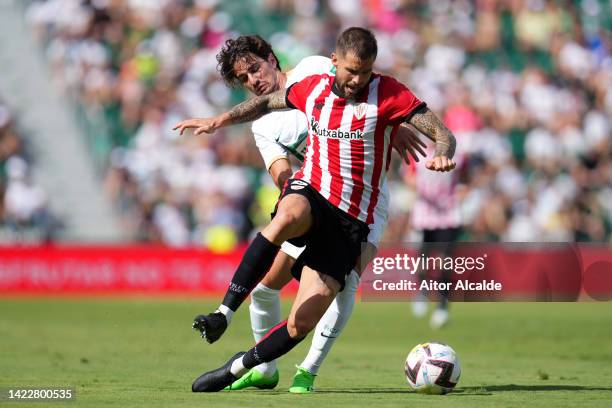
[[[410,123],[435,140],[427,168],[455,167],[453,135],[405,86],[372,73],[376,54],[370,31],[349,28],[338,37],[332,54],[335,76],[312,75],[217,117],[175,127],[181,133],[193,127],[196,134],[211,133],[287,108],[304,112],[309,126],[302,168],[286,183],[274,218],[249,245],[223,300],[227,309],[235,311],[270,268],[280,245],[290,240],[306,249],[291,269],[300,286],[289,317],[246,353],[237,353],[222,367],[198,377],[192,384],[194,392],[222,390],[249,369],[290,351],[315,327],[367,240],[395,126]]]

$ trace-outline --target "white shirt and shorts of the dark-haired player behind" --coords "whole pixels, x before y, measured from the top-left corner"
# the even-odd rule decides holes
[[[302,59],[294,69],[287,73],[288,88],[311,75],[335,73],[335,67],[326,57],[312,56]],[[300,162],[304,160],[308,137],[306,115],[298,109],[276,111],[254,121],[251,127],[255,143],[266,169],[279,159],[289,159],[293,155]],[[381,186],[378,204],[374,209],[374,222],[370,225],[368,242],[378,246],[387,225],[389,209],[389,190],[387,183]],[[293,258],[299,256],[302,248],[296,248],[285,242],[282,246],[285,253]]]

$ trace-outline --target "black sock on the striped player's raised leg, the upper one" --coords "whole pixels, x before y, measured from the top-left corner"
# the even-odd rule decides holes
[[[272,266],[279,246],[268,241],[266,237],[257,234],[247,248],[238,269],[232,277],[229,288],[225,292],[223,304],[234,312],[249,296],[255,285],[264,277]]]

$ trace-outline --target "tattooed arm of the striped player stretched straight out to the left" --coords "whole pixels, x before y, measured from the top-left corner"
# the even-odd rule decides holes
[[[287,109],[285,89],[260,95],[234,106],[230,111],[213,118],[187,119],[179,122],[172,130],[178,130],[182,135],[185,129],[195,129],[195,134],[213,133],[224,126],[250,122],[261,118],[273,110]]]

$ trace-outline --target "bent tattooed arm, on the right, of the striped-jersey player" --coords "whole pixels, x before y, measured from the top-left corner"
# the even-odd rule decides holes
[[[434,157],[425,163],[425,167],[434,171],[451,171],[455,168],[455,136],[429,108],[412,115],[408,123],[436,143]]]

